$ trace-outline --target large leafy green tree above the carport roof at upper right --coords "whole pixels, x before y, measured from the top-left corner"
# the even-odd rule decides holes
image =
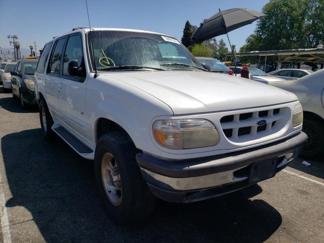
[[[324,42],[323,0],[271,0],[245,51],[314,48]]]

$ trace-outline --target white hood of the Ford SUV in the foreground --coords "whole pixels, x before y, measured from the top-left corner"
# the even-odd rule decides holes
[[[163,101],[174,114],[266,106],[297,100],[288,91],[254,80],[205,71],[134,71],[103,75]]]

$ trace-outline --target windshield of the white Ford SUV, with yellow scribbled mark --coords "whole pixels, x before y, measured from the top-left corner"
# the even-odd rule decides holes
[[[167,70],[203,68],[175,38],[131,31],[91,31],[90,34],[98,71],[109,71],[109,68],[112,68],[110,71],[118,71],[119,69],[113,69],[117,66],[142,66]],[[90,34],[88,34],[89,43]],[[92,52],[92,47],[89,50]],[[169,65],[175,63],[188,65]]]

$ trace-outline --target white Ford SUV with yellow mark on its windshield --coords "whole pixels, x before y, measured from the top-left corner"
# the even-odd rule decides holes
[[[307,136],[293,93],[211,73],[175,38],[77,29],[52,39],[35,71],[46,139],[94,159],[118,223],[147,218],[155,197],[190,203],[273,177]]]

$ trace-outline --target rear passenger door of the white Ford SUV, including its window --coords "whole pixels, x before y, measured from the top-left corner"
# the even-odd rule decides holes
[[[54,43],[44,80],[47,105],[56,113],[56,116],[59,114],[58,92],[61,83],[60,70],[63,63],[62,52],[65,42],[66,36],[57,39]]]

